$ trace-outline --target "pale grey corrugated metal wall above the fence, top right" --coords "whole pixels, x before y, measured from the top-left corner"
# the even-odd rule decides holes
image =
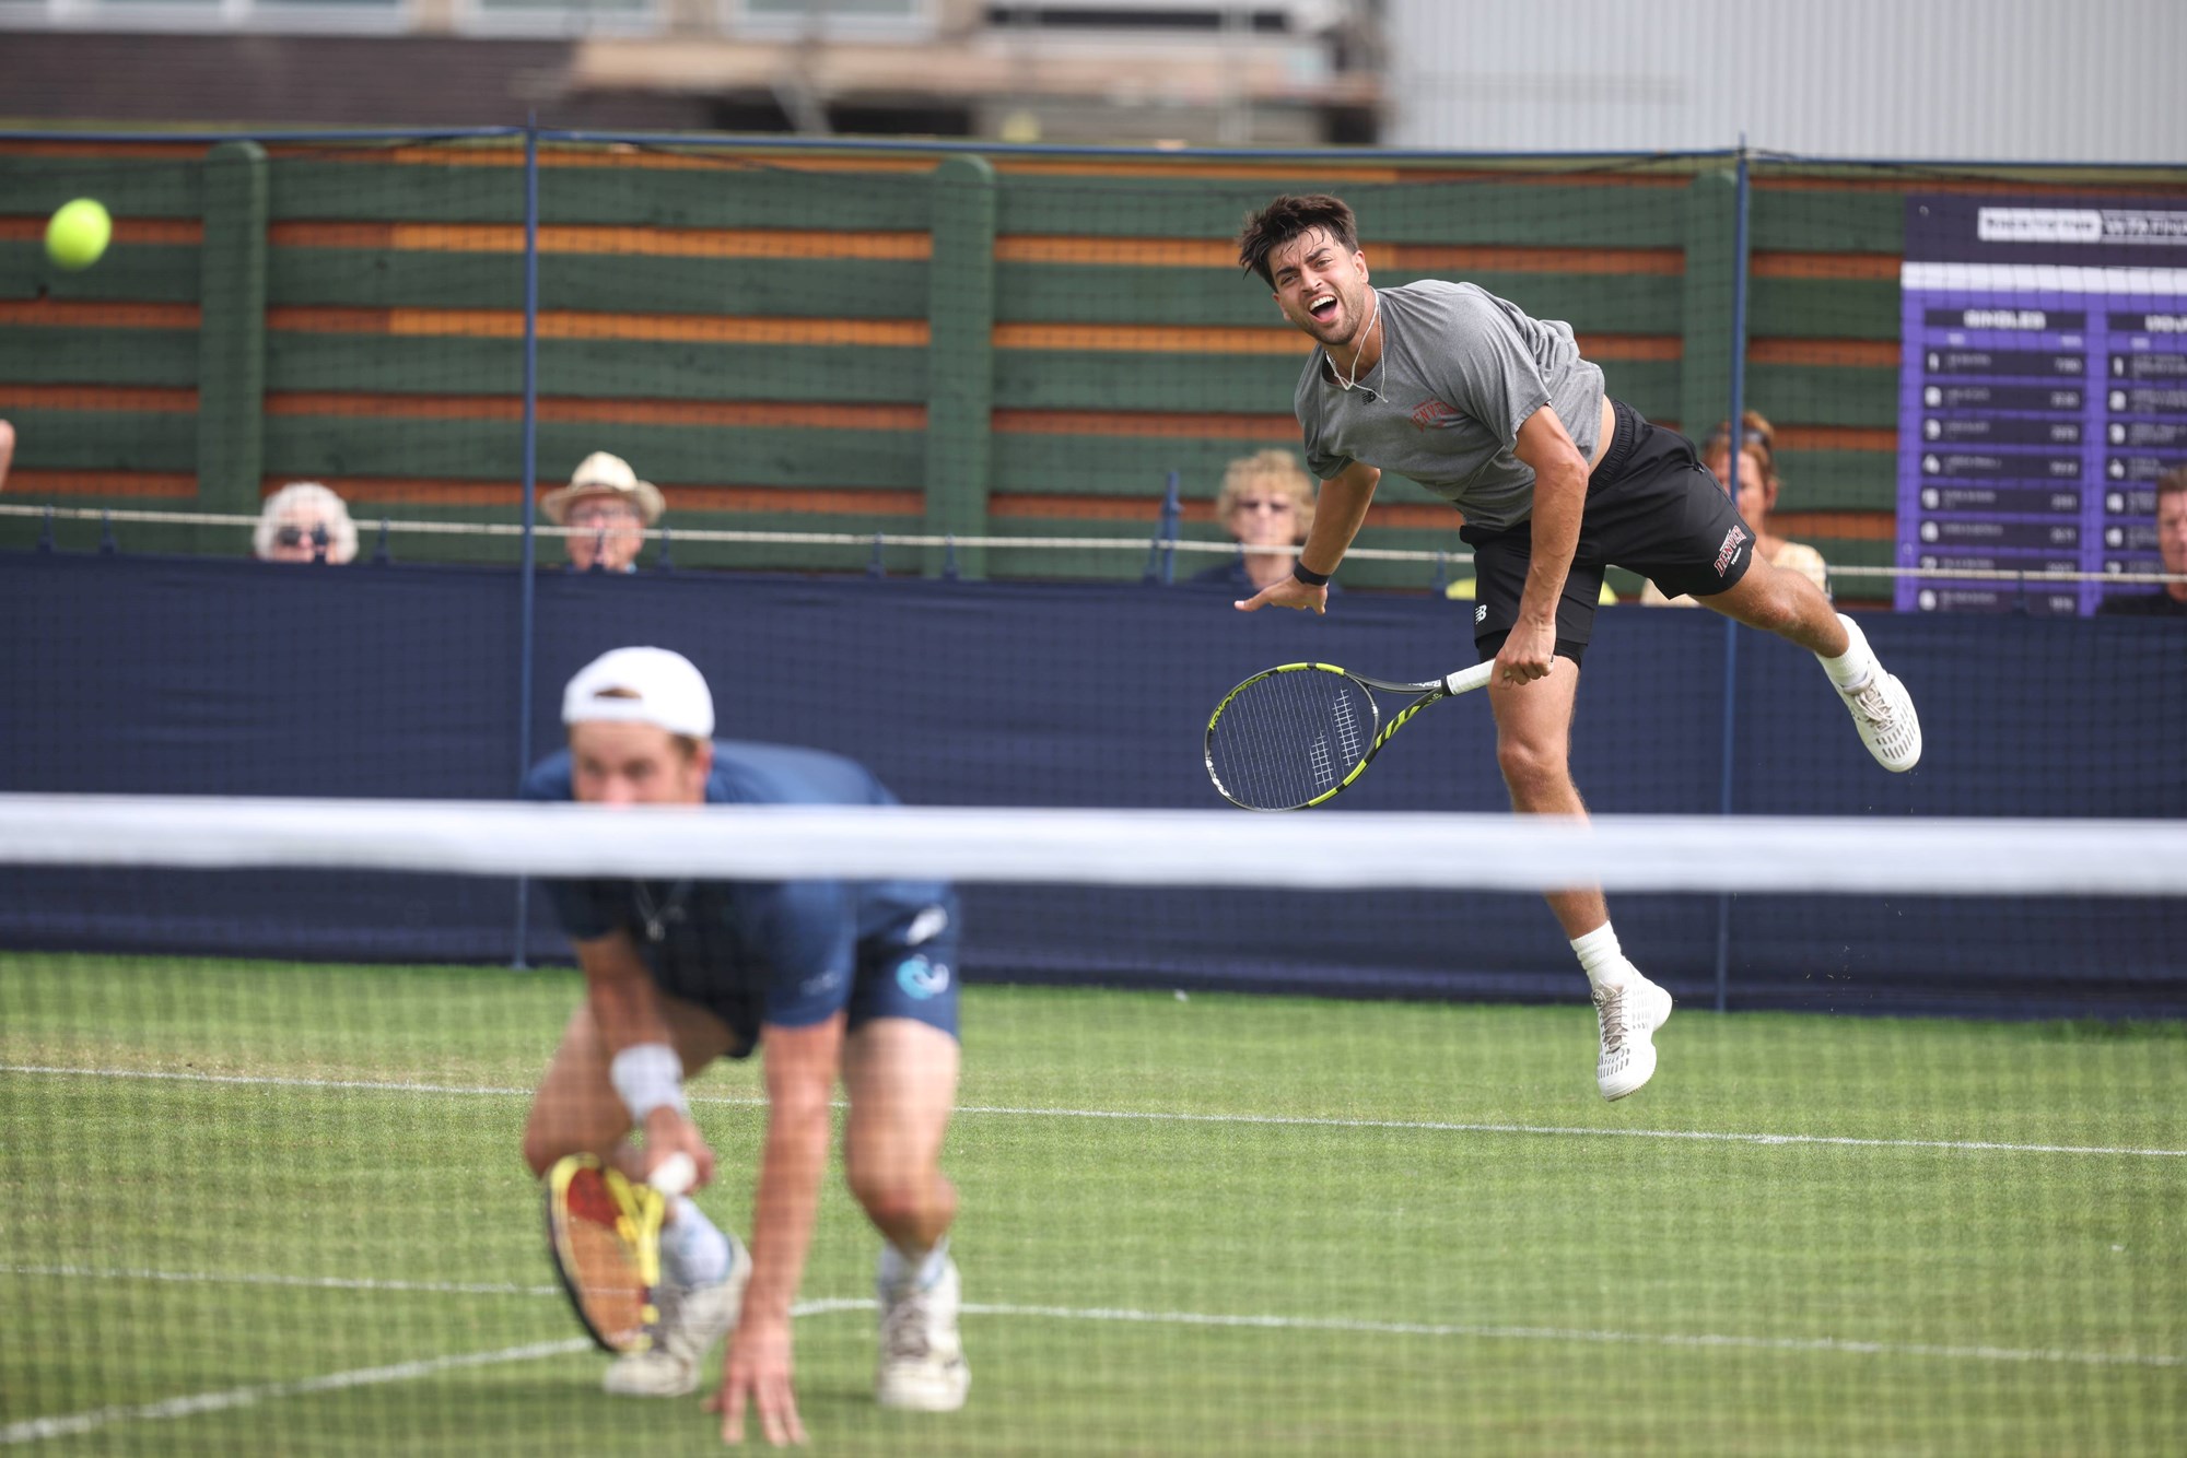
[[[1395,146],[2187,160],[2178,0],[1389,0]]]

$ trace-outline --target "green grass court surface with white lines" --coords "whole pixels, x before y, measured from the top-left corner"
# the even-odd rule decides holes
[[[0,1445],[713,1449],[597,1390],[542,1253],[518,1130],[580,992],[0,957]],[[2187,1027],[1688,1006],[1658,1045],[1612,1106],[1586,1006],[973,986],[971,1401],[875,1408],[831,1176],[814,1451],[2187,1451]],[[693,1106],[746,1233],[757,1065]]]

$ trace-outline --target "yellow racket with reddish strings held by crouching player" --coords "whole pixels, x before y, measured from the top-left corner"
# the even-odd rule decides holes
[[[698,1176],[691,1156],[660,1161],[650,1185],[632,1185],[590,1154],[547,1172],[547,1255],[577,1320],[601,1351],[645,1351],[660,1320],[660,1224],[669,1198]]]

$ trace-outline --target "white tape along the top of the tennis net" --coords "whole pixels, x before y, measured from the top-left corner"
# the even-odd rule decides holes
[[[0,863],[531,877],[1949,896],[2187,894],[2176,820],[0,796]]]

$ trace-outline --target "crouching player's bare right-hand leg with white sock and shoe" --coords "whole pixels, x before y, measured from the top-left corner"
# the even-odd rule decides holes
[[[940,1172],[956,1084],[958,1040],[940,1027],[879,1016],[844,1043],[844,1172],[886,1242],[875,1277],[875,1397],[886,1408],[954,1412],[971,1390],[947,1242],[956,1189]]]

